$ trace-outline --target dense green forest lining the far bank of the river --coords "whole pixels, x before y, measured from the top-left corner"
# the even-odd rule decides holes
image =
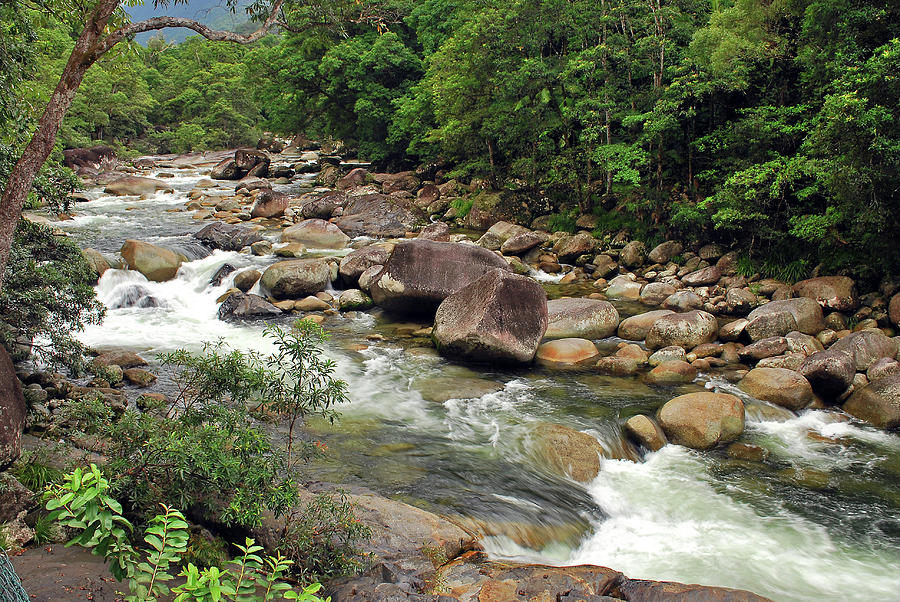
[[[181,152],[302,132],[647,242],[898,271],[896,3],[290,0],[285,16],[252,48],[123,46],[92,69],[63,143]],[[10,46],[43,59],[33,103],[73,36],[36,27],[36,45]]]

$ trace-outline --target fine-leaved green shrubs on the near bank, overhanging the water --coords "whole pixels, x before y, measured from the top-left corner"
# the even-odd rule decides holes
[[[296,577],[309,582],[353,572],[360,566],[355,546],[369,529],[340,493],[301,498],[299,461],[322,449],[293,437],[293,425],[309,416],[333,420],[346,385],[318,357],[324,338],[318,325],[299,321],[267,335],[275,346],[270,355],[222,343],[165,354],[160,359],[178,387],[170,403],[140,402],[143,411],[117,415],[100,400],[72,402],[59,434],[87,433],[103,442],[110,494],[141,521],[160,504],[236,529],[259,527],[266,512],[283,515],[281,551]],[[288,423],[286,446],[266,432],[267,418]]]

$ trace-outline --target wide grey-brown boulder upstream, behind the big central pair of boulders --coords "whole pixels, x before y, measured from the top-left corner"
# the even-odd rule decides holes
[[[384,194],[365,194],[348,199],[344,212],[334,220],[350,236],[401,237],[414,229],[419,219]]]

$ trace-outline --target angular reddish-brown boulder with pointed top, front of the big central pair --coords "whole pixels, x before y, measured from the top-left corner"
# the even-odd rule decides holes
[[[474,361],[530,362],[547,330],[540,284],[494,269],[449,295],[434,317],[441,354]]]

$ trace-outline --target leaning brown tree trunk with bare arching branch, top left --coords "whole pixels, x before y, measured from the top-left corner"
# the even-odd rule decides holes
[[[55,2],[55,0],[44,1]],[[168,6],[187,2],[188,0],[154,0],[154,5]],[[235,6],[235,0],[226,0],[226,2],[231,8]],[[38,171],[53,150],[62,120],[91,65],[129,36],[165,27],[185,27],[214,41],[237,44],[255,42],[278,22],[284,0],[255,2],[252,5],[256,9],[254,16],[259,19],[265,16],[265,19],[259,29],[249,35],[213,30],[192,19],[178,17],[154,17],[145,21],[127,23],[122,17],[120,3],[120,0],[96,0],[93,3],[93,9],[86,14],[84,27],[69,55],[59,83],[38,121],[37,129],[6,181],[6,188],[0,199],[0,290],[3,287],[3,277],[9,261],[16,222],[22,213],[25,200],[28,198]],[[71,10],[72,7],[69,8]],[[265,10],[267,8],[268,11]]]

